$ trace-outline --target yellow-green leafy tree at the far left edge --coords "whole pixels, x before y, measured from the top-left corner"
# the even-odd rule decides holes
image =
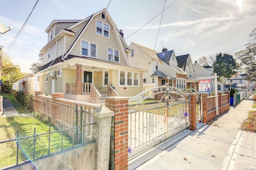
[[[2,62],[2,81],[1,91],[9,93],[12,89],[12,83],[25,76],[20,72],[20,65],[14,65],[11,61],[11,57],[7,54],[3,55]]]

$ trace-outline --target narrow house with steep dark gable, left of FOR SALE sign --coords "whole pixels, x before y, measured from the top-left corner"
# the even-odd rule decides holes
[[[196,89],[197,87],[198,89],[198,80],[196,80],[194,76],[194,68],[193,68],[190,54],[176,56],[176,59],[178,62],[178,67],[182,68],[183,71],[185,71],[188,74],[187,81],[186,81],[187,88]]]

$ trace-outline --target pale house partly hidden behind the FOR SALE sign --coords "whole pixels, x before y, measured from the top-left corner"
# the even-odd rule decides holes
[[[194,76],[195,79],[198,78],[205,78],[205,77],[211,77],[214,76],[214,69],[211,66],[201,66],[197,64],[197,61],[193,63],[194,68]],[[214,84],[214,78],[206,78],[210,80],[210,91],[215,91],[215,84]],[[217,90],[218,92],[224,92],[224,83],[217,81]]]

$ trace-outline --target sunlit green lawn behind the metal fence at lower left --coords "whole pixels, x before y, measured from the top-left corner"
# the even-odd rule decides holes
[[[3,95],[9,97],[15,109],[21,113],[31,113],[22,104],[16,101],[12,96]],[[42,134],[49,132],[49,124],[43,123],[35,117],[0,117],[0,141],[6,141],[17,138],[17,131],[19,130],[19,138],[34,135],[34,128],[36,128],[36,134]],[[51,127],[51,131],[55,129]],[[40,139],[36,140],[36,151],[39,152],[39,156],[48,154],[49,135],[42,135]],[[30,138],[32,139],[32,138]],[[22,161],[22,151],[26,151],[26,155],[29,155],[33,151],[33,146],[29,147],[32,143],[30,139],[19,140],[19,162]],[[44,148],[44,150],[40,147]],[[16,164],[16,141],[1,143],[0,144],[0,168]],[[72,146],[72,140],[66,136],[63,136],[63,149]],[[61,150],[61,133],[53,133],[50,135],[50,153]],[[31,156],[29,157],[31,158]]]

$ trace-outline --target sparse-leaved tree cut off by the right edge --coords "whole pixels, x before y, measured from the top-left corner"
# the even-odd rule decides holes
[[[248,81],[256,81],[256,28],[249,34],[246,48],[242,51],[236,52],[235,56],[241,62],[241,66],[245,66],[245,78]]]

